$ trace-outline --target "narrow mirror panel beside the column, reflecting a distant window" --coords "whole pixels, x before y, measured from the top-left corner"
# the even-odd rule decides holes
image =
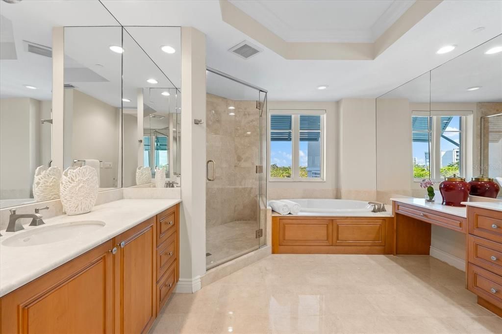
[[[166,45],[175,53],[163,52]],[[166,186],[179,187],[180,30],[126,27],[123,48],[123,185],[152,187],[159,168]]]

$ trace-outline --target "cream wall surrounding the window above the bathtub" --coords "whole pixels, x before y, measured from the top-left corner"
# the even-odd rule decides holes
[[[336,159],[338,154],[337,102],[269,101],[269,114],[274,109],[326,110],[325,181],[269,181],[268,200],[284,198],[336,198]],[[269,126],[268,126],[269,127]],[[270,147],[267,149],[270,154]]]

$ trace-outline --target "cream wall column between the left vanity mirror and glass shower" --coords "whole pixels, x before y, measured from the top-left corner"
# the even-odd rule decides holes
[[[181,28],[180,281],[177,292],[200,289],[206,272],[206,38]],[[195,125],[194,119],[204,124]]]

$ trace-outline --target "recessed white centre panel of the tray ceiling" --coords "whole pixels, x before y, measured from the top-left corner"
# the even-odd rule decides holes
[[[415,1],[231,0],[287,42],[374,42]]]

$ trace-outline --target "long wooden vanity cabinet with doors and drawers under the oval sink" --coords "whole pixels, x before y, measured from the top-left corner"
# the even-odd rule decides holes
[[[0,299],[0,332],[146,333],[179,279],[179,205]]]

